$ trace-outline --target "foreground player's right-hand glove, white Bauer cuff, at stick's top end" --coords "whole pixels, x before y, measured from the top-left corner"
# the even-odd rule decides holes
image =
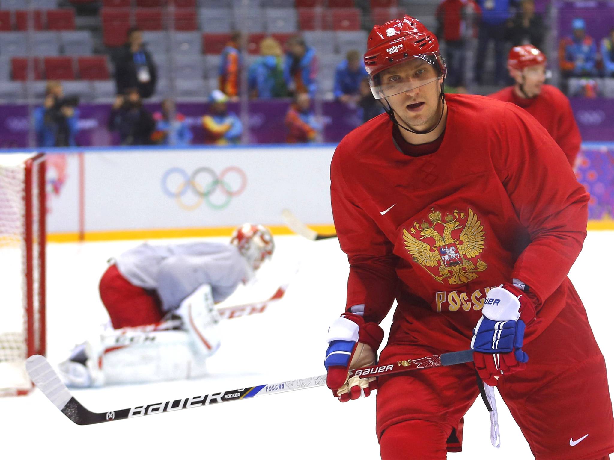
[[[526,367],[524,328],[534,317],[534,301],[516,286],[504,284],[488,292],[471,340],[475,369],[485,383],[495,386],[501,375]]]

